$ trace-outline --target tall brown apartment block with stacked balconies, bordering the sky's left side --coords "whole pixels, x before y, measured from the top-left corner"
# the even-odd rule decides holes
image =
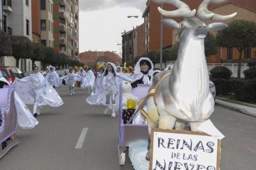
[[[78,58],[78,0],[53,0],[54,49],[71,58]]]

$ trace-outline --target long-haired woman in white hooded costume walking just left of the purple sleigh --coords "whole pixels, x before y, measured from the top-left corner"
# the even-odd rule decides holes
[[[116,117],[115,111],[118,110],[118,97],[119,97],[119,79],[132,82],[131,79],[124,77],[116,72],[116,66],[114,63],[109,62],[106,64],[106,70],[104,71],[102,86],[104,91],[97,96],[96,103],[92,103],[87,100],[89,104],[100,104],[105,99],[104,114],[107,114],[109,110],[112,110],[111,117]]]

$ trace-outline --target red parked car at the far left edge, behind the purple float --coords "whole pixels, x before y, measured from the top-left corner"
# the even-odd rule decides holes
[[[22,79],[24,74],[17,67],[12,66],[0,66],[0,71],[2,72],[3,77],[12,84],[15,78]]]

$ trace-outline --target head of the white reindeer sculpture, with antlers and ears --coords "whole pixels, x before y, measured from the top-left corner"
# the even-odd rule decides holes
[[[207,31],[220,31],[227,27],[225,23],[214,22],[206,26],[203,20],[214,19],[214,20],[226,20],[235,16],[237,13],[231,15],[219,15],[213,12],[210,12],[207,9],[209,3],[220,4],[226,0],[204,0],[199,6],[196,14],[196,9],[190,10],[187,4],[179,0],[151,0],[157,4],[172,4],[177,7],[177,10],[174,11],[165,11],[162,8],[158,7],[158,11],[166,17],[183,17],[184,20],[180,23],[176,22],[173,19],[164,18],[162,23],[170,28],[177,28],[179,30],[179,37],[182,39],[187,37],[188,34],[203,39],[207,35]],[[197,16],[194,17],[194,16]],[[194,17],[194,18],[193,18]]]

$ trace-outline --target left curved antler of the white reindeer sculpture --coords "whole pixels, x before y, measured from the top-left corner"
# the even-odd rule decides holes
[[[156,4],[172,4],[175,7],[179,8],[174,11],[165,11],[162,8],[158,7],[158,11],[166,17],[191,18],[191,17],[195,16],[195,14],[196,14],[196,9],[191,11],[187,4],[185,4],[179,0],[151,0],[151,1]]]

